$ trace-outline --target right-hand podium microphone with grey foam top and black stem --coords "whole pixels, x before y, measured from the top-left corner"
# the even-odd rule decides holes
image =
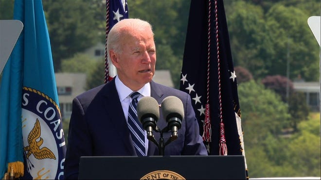
[[[168,96],[161,102],[163,116],[166,118],[167,127],[172,131],[172,140],[177,139],[178,129],[184,118],[184,107],[182,101],[175,96]]]

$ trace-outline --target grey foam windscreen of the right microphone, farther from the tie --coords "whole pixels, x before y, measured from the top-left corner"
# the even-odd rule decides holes
[[[169,118],[177,117],[180,120],[184,118],[184,107],[182,101],[176,96],[168,96],[161,102],[163,116],[166,121]]]

